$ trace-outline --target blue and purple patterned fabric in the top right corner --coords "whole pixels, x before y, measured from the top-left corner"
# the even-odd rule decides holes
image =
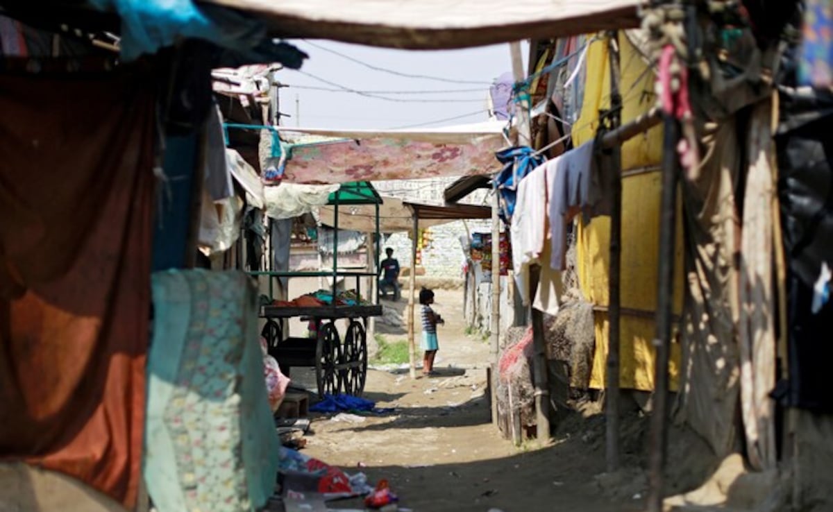
[[[833,84],[833,0],[806,0],[798,72],[802,85]]]

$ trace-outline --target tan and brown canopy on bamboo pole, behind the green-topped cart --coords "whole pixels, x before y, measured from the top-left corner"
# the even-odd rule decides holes
[[[420,227],[437,226],[459,219],[486,219],[491,217],[488,206],[474,205],[430,205],[402,201],[397,197],[382,197],[379,205],[379,231],[396,233],[413,229],[413,214],[420,219]],[[325,226],[334,226],[333,206],[322,206],[320,221]],[[376,206],[341,206],[338,209],[339,229],[372,233],[376,231]]]

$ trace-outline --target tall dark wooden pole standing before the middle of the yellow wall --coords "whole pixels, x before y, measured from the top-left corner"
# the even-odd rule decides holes
[[[616,32],[609,35],[609,55],[611,61],[611,131],[616,130],[621,120],[621,92],[619,46]],[[616,144],[606,157],[607,168],[611,173],[611,245],[610,245],[610,279],[608,280],[609,308],[607,314],[607,385],[606,385],[606,465],[607,471],[619,469],[619,318],[620,318],[620,279],[621,279],[621,215],[622,215],[622,177],[621,147]]]

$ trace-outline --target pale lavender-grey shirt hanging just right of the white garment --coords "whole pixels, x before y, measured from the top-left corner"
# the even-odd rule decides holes
[[[547,216],[550,221],[550,266],[564,270],[566,224],[579,213],[610,215],[611,185],[595,162],[594,143],[586,142],[546,163]]]

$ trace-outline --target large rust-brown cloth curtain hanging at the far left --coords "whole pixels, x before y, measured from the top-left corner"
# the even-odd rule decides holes
[[[0,453],[128,510],[142,464],[153,82],[0,77]]]

